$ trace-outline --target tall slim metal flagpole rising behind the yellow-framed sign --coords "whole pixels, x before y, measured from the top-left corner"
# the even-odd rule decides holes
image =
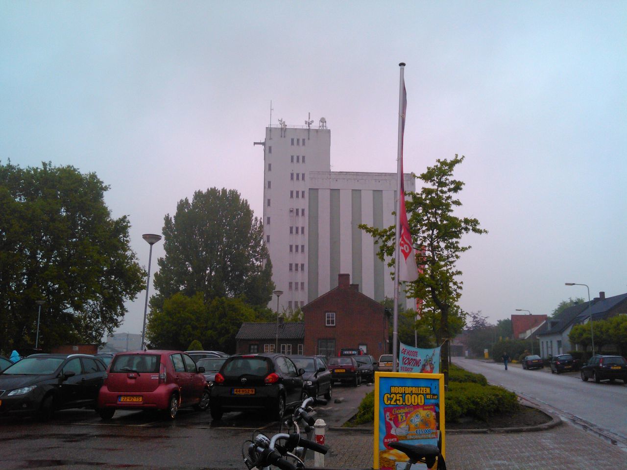
[[[398,290],[399,290],[399,240],[401,236],[401,179],[403,178],[403,87],[405,63],[399,63],[401,78],[398,92],[398,150],[396,154],[396,241],[394,243],[394,316],[392,330],[392,371],[398,372]]]

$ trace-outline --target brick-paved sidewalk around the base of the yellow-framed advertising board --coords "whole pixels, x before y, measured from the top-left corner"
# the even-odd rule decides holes
[[[327,469],[372,468],[372,432],[330,429]],[[313,466],[313,461],[307,462]],[[449,470],[627,468],[627,452],[568,423],[546,431],[446,436]]]

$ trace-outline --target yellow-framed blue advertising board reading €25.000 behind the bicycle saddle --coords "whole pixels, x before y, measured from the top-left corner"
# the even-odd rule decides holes
[[[376,372],[374,382],[373,467],[404,470],[409,459],[390,447],[395,441],[434,446],[439,442],[444,456],[444,375]],[[411,470],[426,468],[416,464]]]

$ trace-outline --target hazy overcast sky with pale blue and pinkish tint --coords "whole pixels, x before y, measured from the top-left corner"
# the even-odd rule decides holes
[[[0,0],[0,160],[95,172],[147,268],[142,234],[196,190],[262,215],[270,102],[326,118],[332,170],[394,172],[403,61],[405,170],[465,155],[459,215],[489,231],[461,307],[550,314],[587,300],[565,282],[627,292],[626,24],[624,1]]]

